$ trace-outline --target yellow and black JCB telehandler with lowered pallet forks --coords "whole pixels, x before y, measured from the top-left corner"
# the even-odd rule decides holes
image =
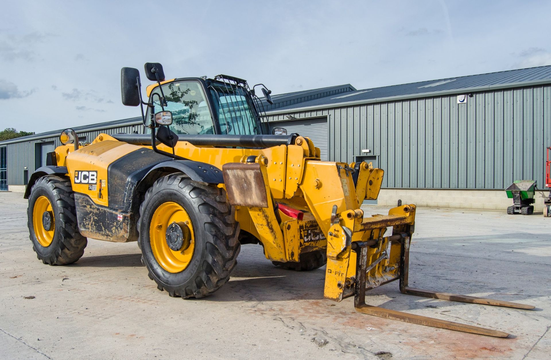
[[[137,241],[157,287],[201,298],[226,283],[241,244],[260,244],[274,265],[312,270],[326,265],[324,295],[355,295],[356,310],[383,318],[475,334],[501,331],[426,318],[365,304],[365,291],[399,280],[405,294],[532,309],[499,300],[408,286],[415,205],[364,218],[365,199],[379,194],[383,170],[366,163],[327,162],[309,138],[263,135],[255,95],[243,79],[165,80],[142,100],[139,71],[122,68],[122,103],[142,107],[148,133],[100,134],[81,146],[74,131],[29,180],[30,240],[44,264],[77,261],[87,238]],[[392,233],[385,235],[387,228]]]

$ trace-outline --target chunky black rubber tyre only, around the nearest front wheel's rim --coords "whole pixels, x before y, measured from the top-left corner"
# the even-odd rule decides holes
[[[148,276],[156,282],[157,288],[168,292],[171,297],[202,298],[217,291],[228,282],[230,273],[237,264],[237,255],[240,251],[240,243],[237,241],[240,230],[239,223],[235,220],[235,208],[229,205],[224,189],[193,181],[183,173],[175,173],[156,180],[145,193],[144,201],[139,209],[138,232],[142,231],[142,226],[147,226],[149,229],[149,224],[142,224],[142,222],[145,218],[144,212],[152,196],[158,194],[160,189],[174,184],[179,187],[183,194],[187,194],[196,202],[201,213],[201,221],[203,221],[201,225],[204,227],[204,233],[206,234],[202,263],[199,265],[199,270],[187,283],[179,285],[166,284],[158,276],[155,276],[145,257],[145,247],[142,241],[144,239],[149,241],[149,236],[144,237],[140,234],[138,246],[142,249],[142,264],[147,267]],[[186,211],[189,212],[188,209]],[[195,228],[199,224],[193,224],[193,226]],[[196,237],[197,233],[196,230]],[[197,245],[195,251],[194,257],[197,256]],[[183,270],[183,272],[186,270]]]

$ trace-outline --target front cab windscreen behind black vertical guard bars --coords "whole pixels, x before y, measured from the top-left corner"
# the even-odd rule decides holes
[[[260,134],[256,112],[250,96],[247,96],[243,88],[225,83],[212,83],[209,89],[223,134]]]

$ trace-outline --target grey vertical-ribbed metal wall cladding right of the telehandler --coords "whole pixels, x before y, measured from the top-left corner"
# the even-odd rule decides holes
[[[329,160],[353,162],[351,154],[370,149],[383,187],[504,189],[518,179],[543,187],[551,85],[473,93],[467,104],[456,95],[325,109]]]

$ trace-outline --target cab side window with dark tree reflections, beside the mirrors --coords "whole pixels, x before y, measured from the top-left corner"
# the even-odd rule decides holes
[[[170,130],[177,134],[213,134],[212,116],[202,87],[196,81],[175,81],[161,85],[167,106],[172,111]],[[152,92],[155,113],[161,111],[159,87]]]

